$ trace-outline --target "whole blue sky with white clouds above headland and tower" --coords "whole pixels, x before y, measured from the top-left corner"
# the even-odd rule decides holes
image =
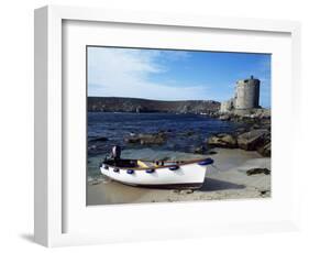
[[[269,54],[88,47],[91,97],[221,102],[251,75],[261,80],[260,105],[269,108]]]

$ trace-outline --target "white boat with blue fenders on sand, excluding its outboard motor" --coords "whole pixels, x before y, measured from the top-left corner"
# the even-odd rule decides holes
[[[101,173],[125,185],[152,188],[199,188],[211,158],[194,161],[141,161],[106,158]]]

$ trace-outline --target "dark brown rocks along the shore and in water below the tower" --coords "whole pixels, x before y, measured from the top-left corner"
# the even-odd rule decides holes
[[[205,144],[196,146],[194,153],[209,154],[213,147],[241,148],[244,151],[256,151],[264,157],[271,157],[272,134],[271,134],[271,111],[265,109],[255,109],[251,111],[231,112],[231,113],[210,113],[208,117],[218,118],[222,121],[233,121],[245,124],[236,129],[233,133],[216,133],[205,140]],[[124,141],[130,144],[141,145],[162,145],[167,141],[167,131],[155,133],[132,133],[125,136]],[[194,135],[195,132],[188,131],[184,136]]]

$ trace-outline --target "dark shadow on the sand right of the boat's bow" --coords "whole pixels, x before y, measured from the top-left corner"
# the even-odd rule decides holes
[[[245,185],[239,185],[230,182],[207,178],[202,186],[197,189],[199,191],[216,191],[216,190],[228,190],[228,189],[244,189]]]

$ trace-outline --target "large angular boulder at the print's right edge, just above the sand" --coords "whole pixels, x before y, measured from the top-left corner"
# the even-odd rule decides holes
[[[269,139],[269,131],[266,129],[256,129],[242,133],[238,136],[239,147],[245,151],[255,151],[260,146],[265,145]]]

